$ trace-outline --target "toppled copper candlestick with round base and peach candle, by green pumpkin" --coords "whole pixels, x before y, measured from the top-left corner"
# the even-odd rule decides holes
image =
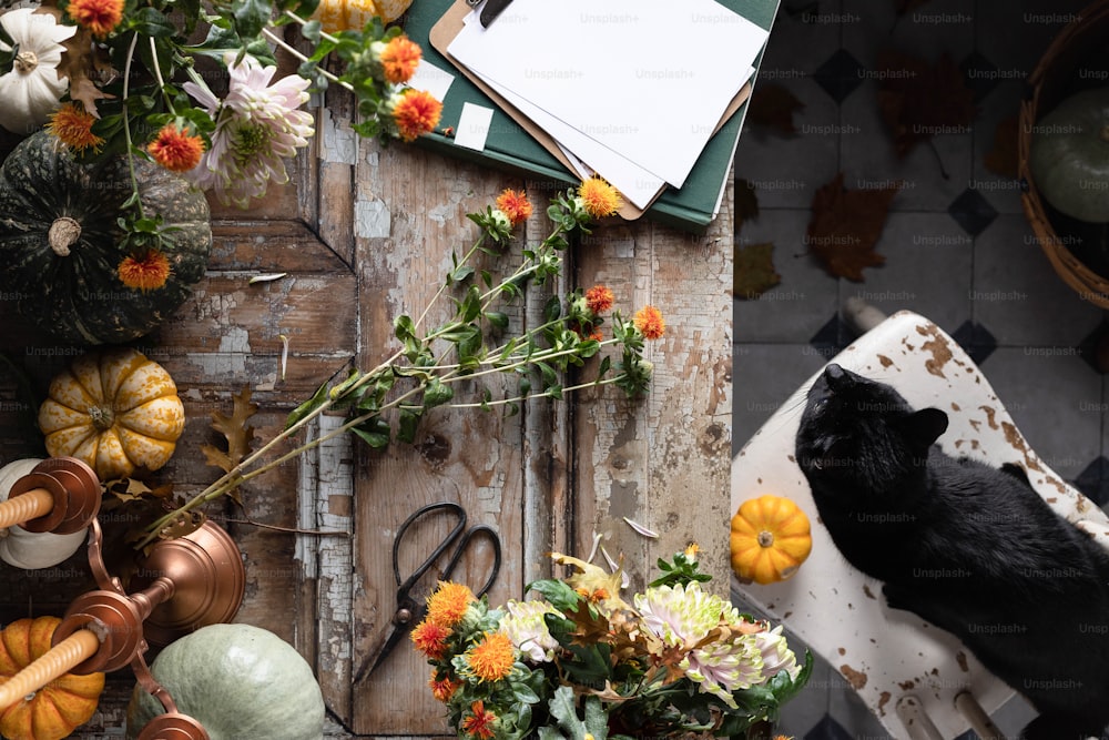
[[[208,740],[203,726],[179,712],[150,672],[146,636],[155,645],[167,645],[200,627],[230,621],[246,587],[238,547],[211,521],[183,537],[161,540],[138,571],[141,590],[129,595],[104,566],[100,523],[93,519],[90,527],[89,566],[100,589],[74,599],[54,630],[54,647],[0,686],[0,708],[67,672],[108,672],[130,665],[139,685],[165,709],[139,740]]]

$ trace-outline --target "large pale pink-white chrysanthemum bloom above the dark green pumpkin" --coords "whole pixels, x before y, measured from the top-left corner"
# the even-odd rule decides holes
[[[202,190],[214,190],[221,202],[245,209],[265,195],[271,181],[288,182],[284,158],[315,133],[312,115],[297,110],[308,101],[308,80],[289,74],[271,85],[276,67],[262,67],[250,55],[233,65],[233,53],[224,61],[231,82],[223,101],[204,85],[182,85],[215,121],[212,148],[189,176]]]

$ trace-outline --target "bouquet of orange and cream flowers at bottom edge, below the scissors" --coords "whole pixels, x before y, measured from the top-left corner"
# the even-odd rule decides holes
[[[702,590],[695,545],[630,602],[619,568],[551,557],[576,572],[531,584],[537,599],[491,608],[449,581],[428,598],[411,640],[459,738],[735,736],[808,680],[781,626]]]

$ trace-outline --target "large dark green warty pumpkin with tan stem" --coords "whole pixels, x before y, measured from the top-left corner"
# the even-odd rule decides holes
[[[165,284],[125,285],[131,255],[118,224],[131,196],[122,158],[81,164],[44,131],[23,140],[0,168],[0,291],[40,328],[80,345],[129,342],[157,327],[204,276],[212,250],[204,194],[156,164],[135,160],[146,216],[161,214]]]

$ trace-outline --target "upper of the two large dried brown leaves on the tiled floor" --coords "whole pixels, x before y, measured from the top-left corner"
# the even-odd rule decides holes
[[[878,54],[876,73],[881,80],[878,108],[897,156],[905,156],[937,133],[969,131],[975,116],[974,93],[949,54],[932,65],[886,50]]]

